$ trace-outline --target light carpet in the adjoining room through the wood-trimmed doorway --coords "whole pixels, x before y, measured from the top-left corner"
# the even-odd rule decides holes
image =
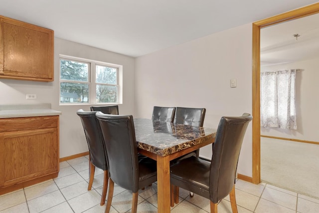
[[[319,145],[261,137],[261,180],[319,199]]]

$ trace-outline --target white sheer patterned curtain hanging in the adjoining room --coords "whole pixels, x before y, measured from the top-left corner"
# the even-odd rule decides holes
[[[262,127],[297,129],[295,79],[295,69],[261,73]]]

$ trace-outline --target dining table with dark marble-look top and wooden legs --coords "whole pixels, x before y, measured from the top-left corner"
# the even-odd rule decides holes
[[[146,118],[135,118],[134,126],[138,152],[157,161],[158,212],[170,213],[169,162],[214,143],[217,129]]]

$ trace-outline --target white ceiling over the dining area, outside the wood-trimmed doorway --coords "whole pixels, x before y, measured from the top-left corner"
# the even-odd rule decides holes
[[[0,0],[0,15],[140,56],[318,0]]]

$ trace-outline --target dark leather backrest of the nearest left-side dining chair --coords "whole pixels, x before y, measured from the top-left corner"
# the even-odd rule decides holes
[[[132,115],[97,112],[108,155],[109,177],[120,187],[139,190],[139,162]]]

